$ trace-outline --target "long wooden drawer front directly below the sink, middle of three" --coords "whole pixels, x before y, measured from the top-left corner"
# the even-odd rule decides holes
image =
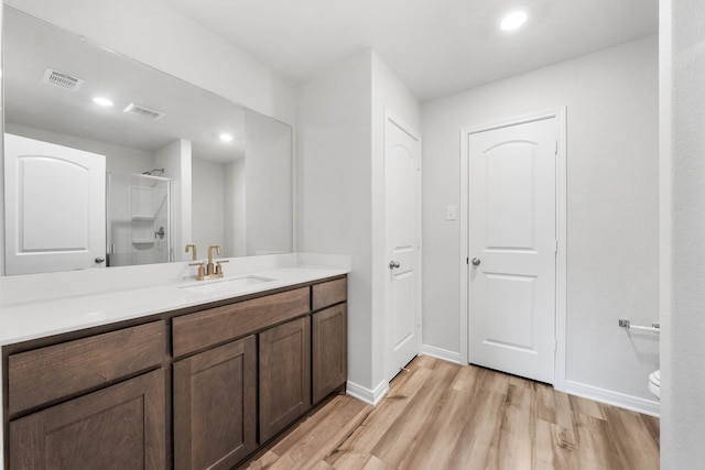
[[[176,317],[172,320],[174,357],[304,315],[308,305],[308,288],[303,287]]]

